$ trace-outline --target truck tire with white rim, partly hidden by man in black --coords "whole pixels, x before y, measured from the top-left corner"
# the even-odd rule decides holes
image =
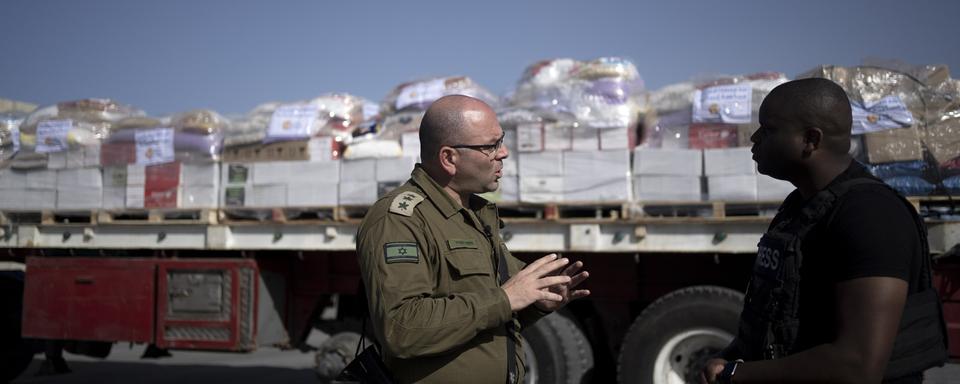
[[[620,347],[620,383],[698,383],[706,361],[737,333],[743,294],[695,286],[673,291],[640,313]]]

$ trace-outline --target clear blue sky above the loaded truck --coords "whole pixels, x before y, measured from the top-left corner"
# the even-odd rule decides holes
[[[154,115],[467,75],[508,91],[530,63],[623,56],[648,88],[698,74],[863,58],[960,77],[960,1],[3,0],[0,97],[108,97]]]

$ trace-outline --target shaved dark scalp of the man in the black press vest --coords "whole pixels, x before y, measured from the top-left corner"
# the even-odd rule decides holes
[[[781,84],[763,100],[760,114],[794,121],[800,128],[819,128],[823,132],[821,147],[831,153],[850,150],[850,100],[833,81],[812,78]]]

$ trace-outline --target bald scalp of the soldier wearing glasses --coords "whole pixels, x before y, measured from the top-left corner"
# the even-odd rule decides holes
[[[432,161],[443,145],[469,142],[469,123],[494,115],[486,103],[463,95],[444,96],[427,108],[420,122],[420,158]]]

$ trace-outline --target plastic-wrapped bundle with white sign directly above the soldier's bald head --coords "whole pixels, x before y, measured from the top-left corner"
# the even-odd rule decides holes
[[[380,112],[390,116],[397,111],[426,110],[435,100],[447,95],[466,95],[483,100],[493,108],[500,105],[497,95],[466,76],[435,77],[400,84],[383,99]]]

